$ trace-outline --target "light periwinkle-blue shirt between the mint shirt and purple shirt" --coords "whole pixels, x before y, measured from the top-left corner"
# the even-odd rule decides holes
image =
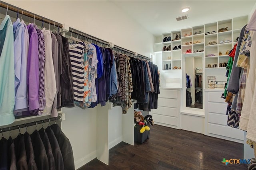
[[[14,33],[14,71],[15,71],[15,106],[14,111],[28,107],[27,97],[27,61],[24,38],[25,26],[18,18],[13,24]]]

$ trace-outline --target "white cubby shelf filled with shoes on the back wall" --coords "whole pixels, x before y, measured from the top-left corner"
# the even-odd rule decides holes
[[[158,59],[162,59],[161,64],[170,62],[175,63],[177,65],[182,65],[182,55],[194,55],[196,53],[203,53],[205,56],[205,64],[212,63],[223,63],[228,60],[228,55],[218,55],[219,52],[225,54],[226,51],[230,51],[233,46],[237,43],[237,37],[240,35],[240,31],[242,27],[246,23],[248,23],[248,16],[241,16],[232,19],[216,21],[212,23],[206,23],[203,25],[193,26],[189,28],[184,28],[176,31],[170,31],[168,33],[163,33],[156,37],[156,43],[154,43],[154,53],[156,53],[159,57]],[[218,32],[220,29],[225,29],[227,27],[228,31]],[[215,33],[212,33],[215,31]],[[194,34],[194,33],[197,34]],[[200,33],[198,33],[200,32]],[[205,34],[208,33],[209,34]],[[184,36],[187,35],[187,36]],[[171,37],[171,41],[161,42],[165,37]],[[179,39],[175,38],[178,37]],[[230,43],[220,43],[220,41],[231,41]],[[194,43],[199,41],[200,43]],[[216,45],[208,45],[209,42],[215,41]],[[192,43],[185,45],[185,43]],[[171,45],[170,51],[162,51],[164,46]],[[173,50],[175,46],[179,46],[181,49]],[[192,53],[186,53],[186,51],[191,51]],[[201,51],[203,52],[195,52]],[[215,55],[214,57],[206,57],[207,55]],[[171,60],[166,60],[169,58]],[[172,65],[174,66],[174,65]],[[205,69],[219,69],[222,67],[214,67],[214,68],[206,68],[206,65],[203,66]],[[162,67],[164,68],[164,67]],[[172,70],[172,69],[171,69]]]

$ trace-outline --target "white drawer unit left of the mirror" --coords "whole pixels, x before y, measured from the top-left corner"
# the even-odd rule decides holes
[[[161,88],[158,108],[152,110],[155,124],[180,129],[180,88]]]

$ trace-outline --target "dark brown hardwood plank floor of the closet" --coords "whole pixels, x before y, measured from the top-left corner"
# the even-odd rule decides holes
[[[97,159],[79,170],[246,170],[245,164],[222,164],[223,158],[243,159],[243,144],[190,131],[154,125],[150,138],[134,146],[124,142],[109,150],[109,165]]]

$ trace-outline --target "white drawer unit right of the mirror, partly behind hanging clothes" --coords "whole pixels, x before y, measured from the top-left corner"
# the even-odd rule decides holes
[[[204,135],[244,142],[244,131],[227,125],[228,104],[220,98],[224,90],[205,90],[205,131]]]

